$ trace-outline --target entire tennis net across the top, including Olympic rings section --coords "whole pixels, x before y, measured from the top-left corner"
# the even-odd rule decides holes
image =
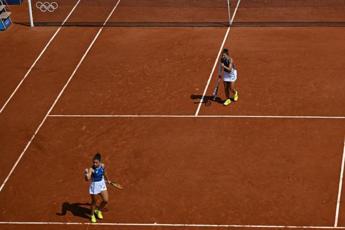
[[[31,0],[36,26],[102,26],[118,0]],[[109,27],[345,27],[345,0],[120,0]],[[68,20],[65,20],[70,14]]]

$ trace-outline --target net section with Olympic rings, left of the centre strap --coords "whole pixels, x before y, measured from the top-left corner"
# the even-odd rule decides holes
[[[101,26],[118,3],[118,0],[31,1],[35,26]],[[121,0],[105,26],[224,27],[229,26],[231,2],[235,1]]]

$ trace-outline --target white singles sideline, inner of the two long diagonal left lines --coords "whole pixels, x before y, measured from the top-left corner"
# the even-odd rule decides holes
[[[45,115],[45,117],[43,118],[43,120],[41,121],[41,123],[39,124],[39,126],[37,127],[34,135],[32,135],[32,137],[30,138],[29,142],[26,144],[24,150],[21,152],[19,158],[17,159],[16,163],[13,165],[11,171],[9,172],[9,174],[7,175],[7,177],[5,178],[4,182],[2,183],[1,187],[0,187],[0,192],[2,191],[2,189],[4,188],[4,186],[6,185],[6,182],[8,181],[8,179],[10,178],[10,176],[12,175],[13,171],[15,170],[15,168],[17,167],[18,163],[20,162],[20,160],[23,158],[26,150],[29,148],[31,142],[34,140],[34,138],[36,137],[37,133],[40,131],[41,127],[43,126],[44,122],[47,120],[49,114],[51,113],[51,111],[54,109],[56,103],[58,102],[58,100],[60,99],[61,95],[65,92],[67,86],[69,85],[69,83],[71,82],[72,78],[74,77],[74,75],[76,74],[76,72],[78,71],[80,65],[83,63],[86,55],[89,53],[89,51],[91,50],[91,48],[93,47],[93,45],[95,44],[97,38],[99,37],[99,35],[101,34],[101,32],[104,29],[104,26],[106,25],[106,23],[109,21],[110,17],[113,15],[115,9],[117,8],[117,6],[119,5],[121,0],[118,0],[116,5],[114,6],[114,8],[112,9],[112,11],[110,12],[110,14],[108,15],[107,19],[105,20],[105,22],[103,23],[102,27],[98,30],[96,36],[94,37],[94,39],[92,40],[92,42],[90,43],[89,47],[87,48],[87,50],[85,51],[84,55],[82,56],[82,58],[80,59],[78,65],[75,67],[74,71],[72,72],[71,76],[69,77],[69,79],[67,80],[66,84],[64,85],[64,87],[61,89],[59,95],[56,97],[54,103],[52,104],[52,106],[49,108],[47,114]]]

